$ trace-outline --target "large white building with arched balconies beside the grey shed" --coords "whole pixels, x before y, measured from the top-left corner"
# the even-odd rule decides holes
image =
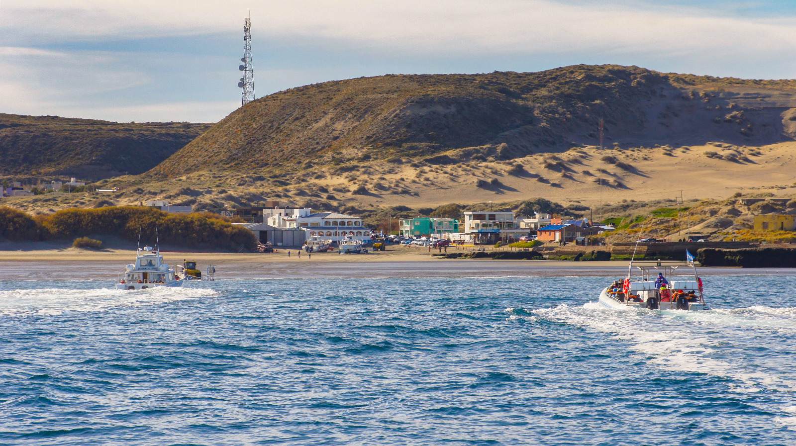
[[[303,211],[303,210],[302,210]],[[273,227],[298,227],[306,233],[306,239],[317,235],[323,239],[339,242],[346,235],[362,242],[370,242],[370,229],[362,226],[362,219],[338,212],[317,212],[315,214],[286,217],[274,215],[268,218]]]

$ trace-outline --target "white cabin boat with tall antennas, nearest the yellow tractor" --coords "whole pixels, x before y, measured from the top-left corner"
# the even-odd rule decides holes
[[[150,246],[139,248],[135,263],[127,265],[122,280],[116,289],[149,289],[160,286],[182,286],[185,281],[185,269],[180,266],[171,268],[163,263],[163,256]]]

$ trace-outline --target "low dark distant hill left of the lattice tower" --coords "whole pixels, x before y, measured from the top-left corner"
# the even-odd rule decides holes
[[[144,173],[209,127],[0,114],[0,176],[99,179]]]

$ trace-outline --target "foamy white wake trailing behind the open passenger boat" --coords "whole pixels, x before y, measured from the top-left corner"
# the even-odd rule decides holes
[[[517,314],[517,310],[513,310]],[[700,373],[736,382],[741,392],[796,392],[796,376],[783,364],[796,342],[772,342],[774,333],[796,332],[794,308],[750,307],[702,312],[649,312],[634,308],[607,309],[588,303],[566,304],[530,311],[529,317],[573,324],[613,335],[631,355],[650,366],[675,374]]]

